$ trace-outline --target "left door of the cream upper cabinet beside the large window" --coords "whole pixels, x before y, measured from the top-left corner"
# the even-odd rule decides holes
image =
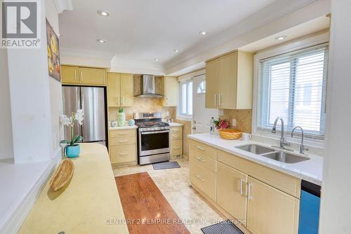
[[[219,59],[206,63],[206,107],[218,108]]]

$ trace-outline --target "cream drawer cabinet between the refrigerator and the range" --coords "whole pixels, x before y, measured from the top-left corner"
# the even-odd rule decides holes
[[[136,129],[110,130],[110,160],[113,167],[135,165]]]

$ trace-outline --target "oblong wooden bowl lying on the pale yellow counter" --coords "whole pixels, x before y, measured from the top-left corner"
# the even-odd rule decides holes
[[[50,181],[50,188],[52,191],[58,191],[60,188],[69,184],[73,177],[74,164],[72,160],[66,158],[62,160],[58,169],[53,175],[53,179]]]

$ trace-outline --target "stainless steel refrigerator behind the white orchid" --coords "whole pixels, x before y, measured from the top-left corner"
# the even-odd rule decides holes
[[[83,136],[83,142],[106,145],[105,89],[100,87],[62,86],[63,111],[67,116],[84,109],[83,125],[74,124],[74,135]],[[65,126],[65,139],[70,139]]]

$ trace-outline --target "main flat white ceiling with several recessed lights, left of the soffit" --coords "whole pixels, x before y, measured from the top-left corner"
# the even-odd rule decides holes
[[[274,1],[74,0],[73,11],[60,14],[60,46],[115,55],[117,63],[159,67]],[[110,16],[98,15],[100,9]],[[201,36],[201,30],[208,35]]]

